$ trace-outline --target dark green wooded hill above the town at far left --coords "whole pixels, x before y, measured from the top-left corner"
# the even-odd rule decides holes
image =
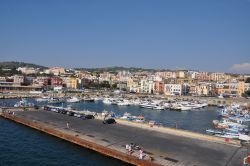
[[[18,67],[34,67],[34,68],[40,68],[40,69],[46,69],[45,66],[40,66],[32,63],[25,63],[25,62],[0,62],[0,68],[1,69],[16,69]]]

